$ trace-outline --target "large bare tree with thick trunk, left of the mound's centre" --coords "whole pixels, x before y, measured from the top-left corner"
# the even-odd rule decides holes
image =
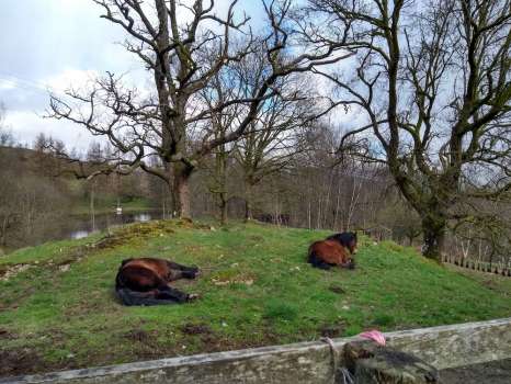
[[[151,89],[147,95],[109,72],[91,90],[70,89],[67,97],[52,95],[50,115],[107,137],[123,155],[124,171],[140,167],[164,180],[180,216],[191,214],[189,179],[198,161],[245,133],[258,106],[276,92],[277,79],[342,58],[331,56],[336,47],[330,44],[302,50],[294,45],[293,55],[284,55],[296,35],[288,25],[288,0],[263,2],[268,27],[258,37],[251,33],[249,18],[235,15],[237,0],[230,1],[225,18],[215,13],[213,0],[94,2],[103,9],[102,18],[126,32],[124,46],[150,72]],[[249,95],[232,94],[214,109],[201,102],[201,91],[215,75],[230,70],[256,47],[263,47],[269,68],[259,87]],[[242,105],[241,118],[228,134],[204,129],[215,113],[235,104]],[[151,156],[160,159],[163,169],[146,161]]]

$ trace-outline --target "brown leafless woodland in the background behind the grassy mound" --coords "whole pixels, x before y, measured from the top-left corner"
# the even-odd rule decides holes
[[[191,179],[192,214],[218,221],[258,219],[276,225],[311,229],[363,230],[376,239],[400,245],[422,245],[419,216],[400,195],[385,166],[354,158],[340,161],[334,154],[338,128],[328,124],[305,129],[299,150],[269,150],[249,167],[240,142],[206,157]],[[117,205],[124,212],[157,211],[159,217],[173,217],[171,196],[158,177],[140,169],[133,173],[98,174],[111,158],[112,148],[93,142],[82,154],[80,165],[60,159],[54,150],[64,144],[39,134],[27,148],[10,136],[0,147],[0,239],[5,248],[58,238],[69,221],[81,218],[93,226],[93,215],[112,214]],[[253,137],[252,137],[253,138]],[[249,138],[243,137],[243,140]],[[326,151],[325,148],[331,148]],[[269,160],[271,159],[271,160]],[[158,161],[155,160],[155,167]],[[78,177],[77,177],[78,176]],[[509,205],[490,206],[500,223],[451,227],[445,252],[491,262],[509,262]]]

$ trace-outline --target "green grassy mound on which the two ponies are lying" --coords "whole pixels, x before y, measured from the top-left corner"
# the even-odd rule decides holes
[[[20,263],[29,268],[0,281],[0,359],[25,351],[26,360],[0,374],[511,316],[510,279],[465,275],[393,242],[362,239],[354,271],[313,269],[305,262],[307,246],[326,235],[154,222],[107,239],[49,242],[2,257],[0,274]],[[198,280],[175,285],[201,298],[120,305],[117,267],[139,256],[200,266]]]

